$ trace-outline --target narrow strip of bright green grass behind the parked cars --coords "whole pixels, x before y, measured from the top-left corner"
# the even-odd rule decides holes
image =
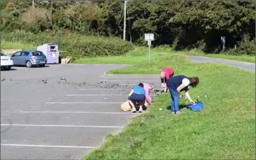
[[[36,46],[34,46],[31,43],[19,43],[19,42],[1,42],[1,49],[28,49],[28,50],[34,50],[36,49]]]

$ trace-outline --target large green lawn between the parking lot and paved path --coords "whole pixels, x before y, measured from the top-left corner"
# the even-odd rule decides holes
[[[109,73],[158,74],[171,67],[176,75],[198,76],[200,84],[189,93],[193,100],[202,100],[204,110],[183,109],[172,115],[167,109],[169,93],[163,93],[147,112],[133,118],[121,133],[109,134],[84,159],[255,159],[255,73],[191,63],[183,54],[159,50],[152,50],[148,63],[147,51],[137,51],[88,62],[135,64]],[[179,103],[187,105],[188,100]]]

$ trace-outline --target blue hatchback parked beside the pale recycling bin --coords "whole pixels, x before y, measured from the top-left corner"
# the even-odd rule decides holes
[[[47,63],[46,56],[39,50],[20,50],[11,55],[14,65],[26,65],[31,68],[33,65],[44,67]]]

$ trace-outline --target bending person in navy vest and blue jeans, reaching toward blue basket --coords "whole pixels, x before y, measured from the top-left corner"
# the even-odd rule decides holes
[[[192,103],[195,102],[189,96],[189,86],[196,87],[199,83],[197,77],[188,78],[185,75],[177,75],[167,80],[167,87],[171,94],[171,110],[172,114],[179,114],[179,93],[184,91],[187,99]]]

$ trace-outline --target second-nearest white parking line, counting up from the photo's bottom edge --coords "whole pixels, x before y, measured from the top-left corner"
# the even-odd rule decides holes
[[[41,125],[41,124],[1,124],[1,126],[27,126],[27,127],[90,127],[90,128],[122,128],[119,126],[74,126],[74,125]]]

